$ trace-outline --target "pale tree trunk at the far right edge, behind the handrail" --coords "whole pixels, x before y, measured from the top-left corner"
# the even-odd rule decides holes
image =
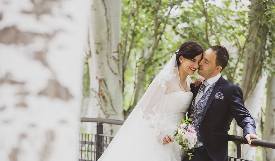
[[[263,140],[275,141],[275,75],[273,74],[267,80],[267,106],[265,109],[265,121]],[[275,150],[263,148],[263,160],[275,160]]]

